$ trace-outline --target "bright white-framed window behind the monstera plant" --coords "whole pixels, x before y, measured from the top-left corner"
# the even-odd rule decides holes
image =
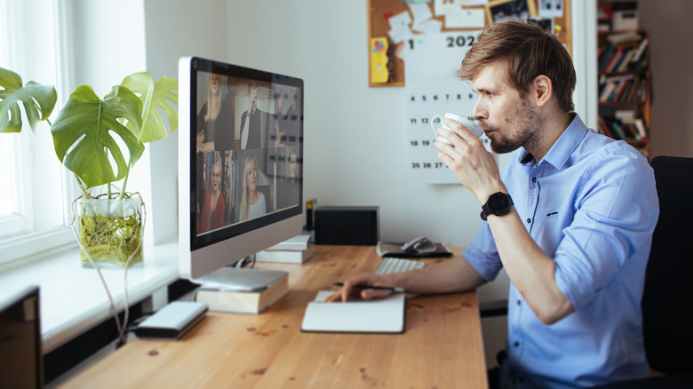
[[[52,0],[0,0],[0,67],[22,77],[57,84],[58,30]],[[61,97],[53,109],[57,117]],[[22,111],[20,133],[0,133],[0,263],[74,242],[63,169],[52,146],[50,126],[32,132]]]

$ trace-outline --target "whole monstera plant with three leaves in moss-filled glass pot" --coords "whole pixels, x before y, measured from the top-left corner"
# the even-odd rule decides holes
[[[0,68],[0,131],[21,130],[20,102],[32,129],[51,115],[55,89],[29,82]],[[178,128],[178,82],[148,73],[128,75],[100,99],[89,85],[78,87],[51,125],[55,153],[75,174],[82,195],[73,203],[83,265],[127,266],[142,261],[144,202],[126,191],[145,143],[166,138]],[[163,112],[168,126],[163,121]],[[170,131],[169,131],[170,130]],[[113,187],[120,185],[114,191]],[[105,193],[92,193],[105,186]],[[73,223],[74,227],[74,223]]]

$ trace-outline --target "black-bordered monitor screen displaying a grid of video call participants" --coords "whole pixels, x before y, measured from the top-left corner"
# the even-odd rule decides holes
[[[301,212],[302,80],[222,65],[191,75],[198,247]]]

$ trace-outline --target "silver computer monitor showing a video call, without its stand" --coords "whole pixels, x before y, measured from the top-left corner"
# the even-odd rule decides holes
[[[303,80],[179,60],[179,270],[195,279],[303,229]]]

